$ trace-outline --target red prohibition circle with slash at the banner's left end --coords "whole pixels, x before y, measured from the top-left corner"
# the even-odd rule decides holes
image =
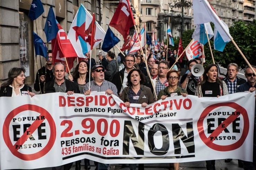
[[[38,113],[40,113],[40,116],[44,116],[45,119],[47,119],[47,121],[50,125],[50,129],[51,129],[51,135],[49,137],[49,141],[46,144],[46,146],[42,150],[40,150],[36,153],[33,153],[33,154],[20,153],[18,151],[19,148],[16,149],[15,145],[16,144],[17,145],[24,144],[26,142],[26,140],[31,136],[31,134],[34,133],[34,131],[40,126],[40,124],[44,120],[34,121],[31,124],[31,126],[26,130],[26,132],[24,134],[22,134],[22,136],[19,138],[19,140],[14,145],[12,145],[12,142],[10,139],[10,134],[9,134],[9,126],[12,121],[12,118],[14,118],[20,112],[27,111],[27,110],[38,112]],[[27,131],[30,131],[30,134],[27,134]],[[54,123],[54,120],[53,120],[51,114],[47,110],[45,110],[42,107],[33,105],[33,104],[24,104],[14,110],[12,110],[6,117],[4,124],[3,124],[3,139],[13,155],[15,155],[16,157],[18,157],[22,160],[31,161],[31,160],[35,160],[35,159],[43,157],[46,153],[48,153],[52,149],[53,144],[56,139],[56,126],[55,126],[55,123]]]

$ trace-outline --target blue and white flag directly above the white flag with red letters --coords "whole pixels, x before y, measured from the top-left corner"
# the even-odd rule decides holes
[[[196,24],[192,38],[195,39],[196,41],[199,41],[203,45],[206,44],[208,42],[208,39],[205,31],[207,31],[207,34],[210,40],[214,35],[210,22],[207,22],[204,24]]]

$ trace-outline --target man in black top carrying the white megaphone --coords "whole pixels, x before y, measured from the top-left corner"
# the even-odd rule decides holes
[[[195,65],[195,64],[198,64],[198,61],[193,59],[193,60],[190,60],[188,62],[188,68],[189,68],[189,73],[188,74],[184,74],[182,77],[181,77],[181,87],[183,89],[186,89],[186,91],[188,92],[188,94],[190,95],[195,95],[195,90],[196,90],[196,87],[197,87],[197,84],[201,81],[202,77],[195,77],[193,76],[192,72],[191,72],[191,68]],[[187,87],[186,87],[186,84],[188,83]]]

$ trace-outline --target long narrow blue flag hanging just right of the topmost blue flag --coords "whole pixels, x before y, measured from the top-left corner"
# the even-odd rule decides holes
[[[44,32],[47,42],[51,41],[57,36],[59,29],[56,23],[53,7],[51,6],[44,26]]]

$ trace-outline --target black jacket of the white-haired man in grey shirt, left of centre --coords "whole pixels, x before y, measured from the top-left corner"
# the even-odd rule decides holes
[[[54,82],[55,82],[55,80],[53,79],[52,81],[45,84],[45,93],[55,93],[56,92],[55,88],[54,88]],[[66,92],[73,91],[74,93],[80,93],[80,90],[76,83],[69,81],[67,79],[65,79],[65,83],[66,83]]]

